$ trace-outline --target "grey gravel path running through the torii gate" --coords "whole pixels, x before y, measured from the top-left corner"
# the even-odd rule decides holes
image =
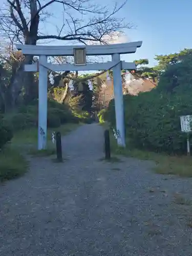
[[[65,162],[32,158],[27,175],[0,186],[1,256],[192,255],[191,179],[101,161],[97,124],[62,144]]]

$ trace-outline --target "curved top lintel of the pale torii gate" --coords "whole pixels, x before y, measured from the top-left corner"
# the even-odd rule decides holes
[[[142,41],[126,42],[125,44],[114,45],[93,45],[93,46],[42,46],[42,45],[16,45],[23,54],[47,55],[47,56],[73,56],[74,48],[86,48],[86,55],[112,55],[114,53],[126,54],[135,53],[141,47]]]

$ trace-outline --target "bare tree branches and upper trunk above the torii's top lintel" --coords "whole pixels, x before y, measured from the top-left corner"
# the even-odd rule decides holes
[[[6,1],[10,10],[5,10],[2,15],[0,13],[0,33],[3,31],[8,37],[12,35],[14,42],[36,44],[37,40],[56,39],[79,41],[85,45],[90,41],[106,44],[106,35],[133,27],[132,24],[126,24],[123,18],[115,17],[126,1],[121,5],[116,4],[112,12],[109,12],[106,6],[92,4],[91,0],[51,0],[44,5],[41,5],[39,0]],[[60,28],[56,26],[57,33],[49,35],[39,31],[39,22],[44,22],[50,17],[49,11],[46,13],[42,11],[52,4],[62,5],[65,15]],[[74,11],[84,18],[75,15]],[[26,16],[27,12],[30,13],[29,18]],[[86,13],[92,15],[87,17]]]

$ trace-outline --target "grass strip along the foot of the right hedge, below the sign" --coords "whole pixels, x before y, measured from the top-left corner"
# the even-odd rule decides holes
[[[158,174],[192,177],[192,156],[169,156],[166,154],[137,150],[136,148],[122,148],[117,146],[116,139],[111,132],[111,150],[113,154],[134,157],[141,160],[153,160],[156,163],[154,171]],[[129,147],[129,141],[126,143]]]

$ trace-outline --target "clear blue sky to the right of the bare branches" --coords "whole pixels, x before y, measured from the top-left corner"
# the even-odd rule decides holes
[[[114,2],[113,0],[95,0],[96,4],[108,5],[109,8],[112,8]],[[62,18],[59,15],[60,10],[57,6],[55,8],[55,18],[51,20],[53,26],[56,23],[59,24]],[[124,55],[122,59],[133,61],[148,58],[150,66],[154,66],[156,54],[169,54],[184,48],[192,48],[191,12],[192,1],[189,0],[178,0],[178,2],[174,0],[129,0],[117,16],[125,17],[126,22],[131,22],[136,26],[136,29],[126,30],[129,40],[142,40],[143,44],[135,54]],[[50,25],[45,28],[49,34],[53,33],[52,29]],[[55,43],[63,44],[63,42]]]

